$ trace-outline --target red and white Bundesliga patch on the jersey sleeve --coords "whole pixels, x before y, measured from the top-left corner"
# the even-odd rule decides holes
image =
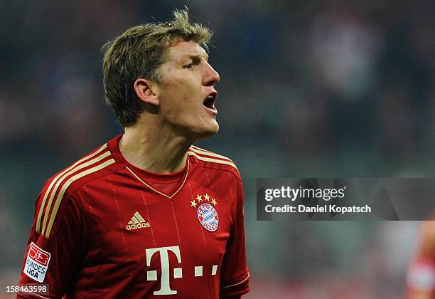
[[[26,266],[24,266],[24,274],[32,278],[33,280],[42,283],[47,273],[48,263],[50,263],[51,253],[43,251],[36,246],[35,243],[31,243],[28,248]]]

